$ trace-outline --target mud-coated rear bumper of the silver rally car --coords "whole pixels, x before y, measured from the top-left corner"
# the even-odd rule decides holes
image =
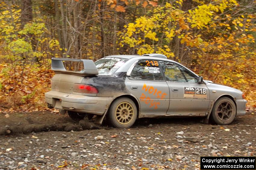
[[[112,97],[84,96],[58,91],[48,91],[45,93],[46,103],[52,105],[56,109],[91,113],[95,115],[103,115],[112,100]]]

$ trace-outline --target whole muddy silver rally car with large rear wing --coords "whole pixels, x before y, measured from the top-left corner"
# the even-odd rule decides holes
[[[65,69],[63,61],[83,63],[83,70]],[[198,116],[219,125],[245,115],[245,95],[235,88],[203,80],[163,54],[112,55],[96,62],[52,58],[49,108],[74,120],[96,115],[114,127],[127,128],[143,117]]]

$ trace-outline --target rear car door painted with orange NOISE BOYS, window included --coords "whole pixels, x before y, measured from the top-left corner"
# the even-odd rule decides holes
[[[139,100],[140,114],[166,114],[170,92],[158,60],[139,60],[125,84]]]

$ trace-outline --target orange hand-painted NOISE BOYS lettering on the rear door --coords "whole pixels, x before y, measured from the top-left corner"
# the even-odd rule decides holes
[[[166,97],[166,93],[158,90],[157,88],[154,88],[154,86],[147,86],[145,83],[143,84],[142,90],[144,90],[145,92],[148,92],[149,94],[152,94],[154,96],[156,96],[157,98],[163,99]],[[150,97],[146,97],[146,95],[144,93],[141,94],[140,98],[141,101],[144,101],[145,104],[149,104],[149,107],[154,107],[154,109],[158,108],[158,105],[160,104],[160,102],[155,102],[153,100],[151,100]]]

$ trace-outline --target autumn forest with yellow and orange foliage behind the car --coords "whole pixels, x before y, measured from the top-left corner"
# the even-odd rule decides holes
[[[255,0],[2,0],[0,110],[47,110],[51,58],[159,53],[256,107]]]

